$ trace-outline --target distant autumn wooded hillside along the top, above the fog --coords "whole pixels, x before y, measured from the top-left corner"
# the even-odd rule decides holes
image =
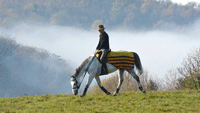
[[[33,20],[95,28],[157,29],[166,23],[187,25],[200,18],[200,4],[170,0],[0,0],[0,26]]]

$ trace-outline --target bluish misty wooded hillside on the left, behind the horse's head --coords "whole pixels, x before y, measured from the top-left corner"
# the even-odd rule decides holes
[[[0,36],[0,97],[71,93],[71,70],[55,54]]]

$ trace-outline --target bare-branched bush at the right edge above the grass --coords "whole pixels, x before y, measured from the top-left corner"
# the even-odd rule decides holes
[[[200,48],[188,54],[182,66],[166,76],[167,90],[199,89]]]

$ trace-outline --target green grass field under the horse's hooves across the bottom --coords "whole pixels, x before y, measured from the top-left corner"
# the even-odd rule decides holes
[[[200,113],[200,90],[119,92],[118,96],[101,94],[42,95],[0,98],[1,112],[196,112]]]

